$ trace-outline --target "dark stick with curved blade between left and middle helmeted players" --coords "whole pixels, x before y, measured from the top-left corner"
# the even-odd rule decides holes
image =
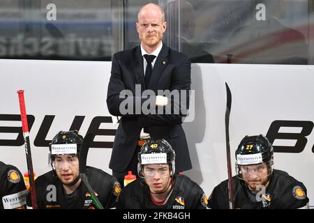
[[[96,208],[104,209],[98,197],[96,197],[96,194],[93,188],[91,187],[89,183],[89,179],[87,178],[87,175],[86,175],[87,153],[89,153],[89,146],[91,145],[91,141],[93,139],[94,139],[93,134],[87,134],[84,137],[84,140],[82,142],[82,146],[80,148],[80,155],[79,155],[80,178],[82,179],[84,185],[87,187],[87,190],[89,191],[89,194],[91,195],[91,200],[94,202]]]

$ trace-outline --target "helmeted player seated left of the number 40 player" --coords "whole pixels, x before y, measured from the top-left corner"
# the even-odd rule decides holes
[[[60,131],[52,139],[49,146],[52,171],[35,181],[38,208],[96,208],[80,179],[78,155],[82,141],[76,130]],[[117,179],[94,167],[87,167],[87,178],[104,208],[113,208],[121,191]]]

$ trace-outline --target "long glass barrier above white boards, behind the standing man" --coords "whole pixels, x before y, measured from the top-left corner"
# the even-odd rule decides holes
[[[0,0],[0,58],[110,61],[147,0]],[[197,63],[314,64],[314,0],[159,0],[163,41]]]

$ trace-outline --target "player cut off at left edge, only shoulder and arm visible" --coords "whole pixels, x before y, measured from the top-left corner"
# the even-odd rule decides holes
[[[21,172],[0,162],[0,209],[25,209],[27,187]]]

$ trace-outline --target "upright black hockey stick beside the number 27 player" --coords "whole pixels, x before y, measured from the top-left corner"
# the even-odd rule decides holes
[[[231,155],[230,155],[230,139],[229,139],[229,119],[231,110],[231,91],[227,82],[225,83],[227,90],[227,107],[225,109],[225,146],[227,151],[227,171],[228,171],[228,192],[229,192],[229,208],[234,208],[233,186],[232,186],[232,168],[231,168]]]

